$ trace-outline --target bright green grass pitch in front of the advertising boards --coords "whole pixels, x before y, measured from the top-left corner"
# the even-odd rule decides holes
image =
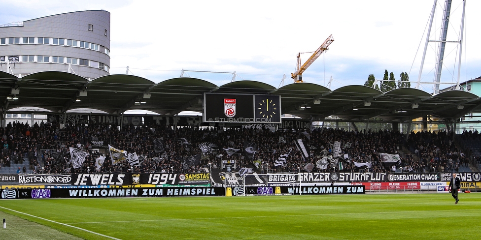
[[[454,205],[450,194],[414,193],[1,200],[7,228],[0,239],[72,238],[65,233],[83,239],[481,239],[481,195],[459,199]]]

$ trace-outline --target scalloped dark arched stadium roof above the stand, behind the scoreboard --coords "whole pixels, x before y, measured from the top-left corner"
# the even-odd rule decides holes
[[[430,115],[452,121],[469,112],[481,111],[480,97],[460,90],[433,96],[412,88],[383,93],[366,86],[329,90],[312,83],[293,83],[276,89],[248,80],[216,86],[202,79],[184,77],[154,83],[119,74],[89,81],[67,72],[46,71],[18,78],[0,71],[2,110],[36,107],[46,109],[37,113],[63,114],[75,109],[97,109],[111,115],[148,110],[172,116],[182,111],[202,113],[205,92],[280,95],[283,114],[312,120],[337,116],[348,121],[378,117],[401,122]],[[18,99],[8,99],[13,95]],[[76,98],[81,101],[75,101]]]

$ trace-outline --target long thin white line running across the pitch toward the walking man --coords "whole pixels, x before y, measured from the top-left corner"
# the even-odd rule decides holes
[[[450,210],[434,210],[434,211],[450,211]],[[407,213],[416,211],[394,211],[394,213]],[[423,211],[424,212],[424,211]],[[368,212],[365,212],[368,213]],[[370,212],[370,213],[393,213],[393,211]],[[214,220],[214,219],[233,219],[233,218],[261,218],[261,217],[293,217],[293,216],[320,216],[320,215],[338,215],[338,214],[359,214],[357,213],[320,213],[320,214],[296,214],[296,215],[270,215],[270,216],[242,216],[242,217],[204,217],[204,218],[172,218],[172,219],[153,219],[153,220],[125,220],[125,221],[102,221],[102,222],[71,222],[70,224],[92,224],[92,223],[121,223],[121,222],[157,222],[157,221],[183,221],[183,220]]]

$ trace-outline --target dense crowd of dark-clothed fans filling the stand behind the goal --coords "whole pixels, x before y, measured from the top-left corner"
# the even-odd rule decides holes
[[[29,126],[8,123],[0,128],[1,165],[20,163],[28,167],[23,172],[37,173],[98,173],[98,172],[203,172],[220,168],[223,160],[235,160],[236,167],[253,168],[260,173],[277,172],[450,172],[467,166],[468,158],[458,150],[452,133],[412,132],[408,138],[402,133],[388,130],[346,131],[334,128],[278,129],[269,128],[216,128],[134,126],[122,128],[112,125],[44,123]],[[294,140],[303,139],[310,147],[310,155],[303,158]],[[407,141],[406,141],[407,139]],[[101,146],[98,143],[102,142]],[[332,155],[334,143],[341,143],[342,168],[328,164],[319,169],[316,162],[326,154]],[[93,146],[92,143],[96,143]],[[210,150],[202,152],[199,145],[206,143]],[[254,143],[253,155],[243,154],[245,143]],[[140,166],[127,161],[112,165],[106,146],[130,153],[136,152]],[[160,145],[160,146],[159,146]],[[90,154],[80,168],[70,163],[69,148]],[[231,156],[225,149],[239,149]],[[401,161],[386,167],[379,159],[379,151],[399,154]],[[281,154],[289,153],[285,163],[276,164]],[[349,157],[344,159],[344,154]],[[95,159],[104,155],[98,169]],[[194,164],[186,159],[200,156]],[[354,162],[371,163],[371,167],[356,167]],[[305,169],[308,163],[313,168]],[[276,166],[278,165],[278,166]],[[310,165],[310,166],[312,166]]]

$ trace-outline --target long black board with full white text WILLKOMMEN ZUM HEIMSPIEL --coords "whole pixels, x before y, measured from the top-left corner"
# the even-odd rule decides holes
[[[0,189],[1,199],[225,196],[223,187]]]

